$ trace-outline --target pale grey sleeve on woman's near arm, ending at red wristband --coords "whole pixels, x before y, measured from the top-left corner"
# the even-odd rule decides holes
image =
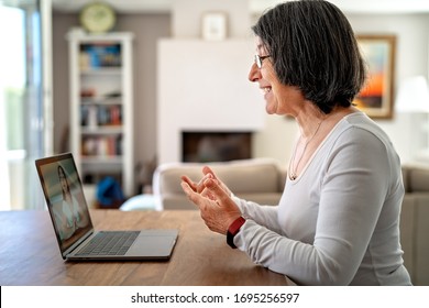
[[[350,284],[388,194],[391,168],[397,167],[389,155],[373,133],[345,130],[328,153],[323,173],[314,179],[320,183],[314,243],[279,235],[252,216],[255,220],[244,223],[234,238],[235,245],[253,262],[298,284]]]

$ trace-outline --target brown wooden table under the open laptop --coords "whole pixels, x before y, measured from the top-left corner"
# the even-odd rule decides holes
[[[179,229],[167,262],[65,262],[47,211],[0,211],[2,286],[292,285],[212,233],[197,211],[92,210],[96,229]]]

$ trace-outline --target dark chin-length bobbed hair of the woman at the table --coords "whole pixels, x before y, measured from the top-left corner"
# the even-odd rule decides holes
[[[350,107],[366,79],[352,26],[334,4],[299,0],[266,11],[252,30],[279,80],[298,87],[324,113]]]

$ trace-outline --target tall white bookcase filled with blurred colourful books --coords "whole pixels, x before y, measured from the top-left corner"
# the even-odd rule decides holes
[[[70,148],[84,185],[113,176],[134,194],[132,40],[70,31]]]

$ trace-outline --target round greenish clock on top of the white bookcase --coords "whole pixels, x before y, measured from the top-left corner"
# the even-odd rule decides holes
[[[95,1],[81,9],[79,19],[88,32],[105,33],[113,29],[117,14],[108,3]]]

